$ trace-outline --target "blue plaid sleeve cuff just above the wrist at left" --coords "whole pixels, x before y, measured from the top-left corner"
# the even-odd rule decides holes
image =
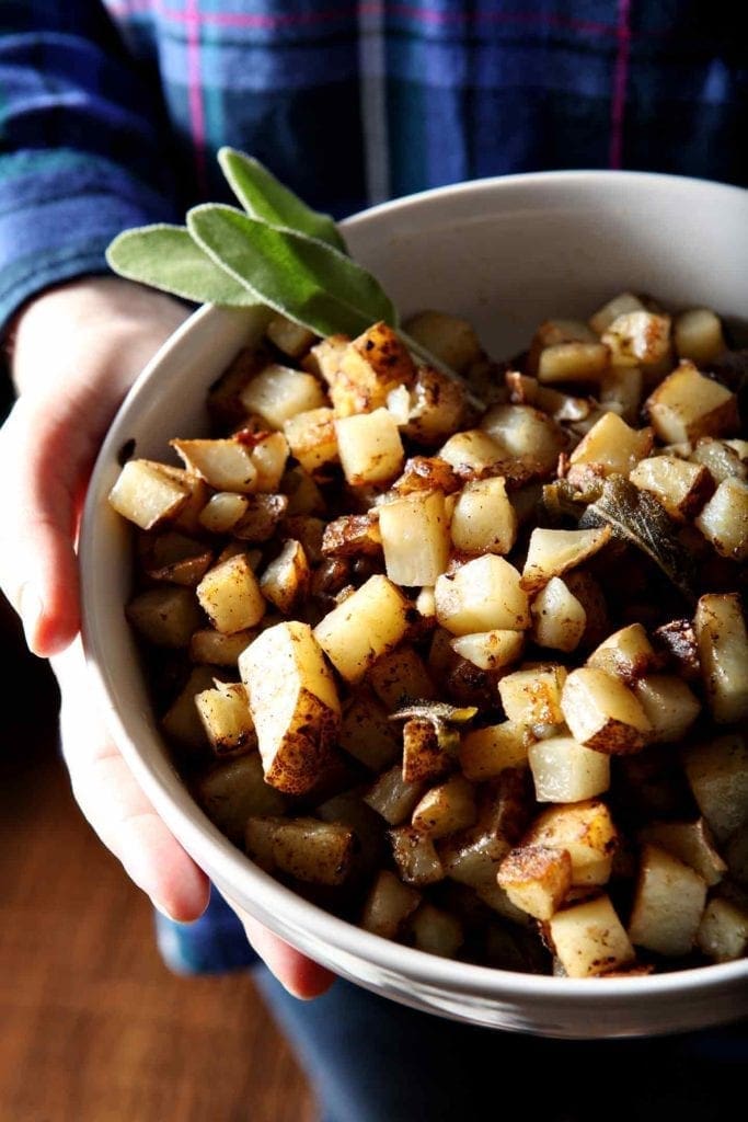
[[[122,230],[175,220],[173,200],[99,156],[62,148],[0,158],[0,333],[44,288],[111,272],[104,252]]]

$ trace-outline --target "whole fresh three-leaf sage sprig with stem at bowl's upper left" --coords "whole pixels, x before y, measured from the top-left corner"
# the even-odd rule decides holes
[[[218,159],[243,211],[204,203],[187,212],[184,227],[126,230],[107,250],[114,273],[197,304],[265,304],[320,335],[357,335],[384,320],[482,407],[464,379],[403,331],[391,300],[349,256],[329,214],[312,210],[244,153],[224,147]]]

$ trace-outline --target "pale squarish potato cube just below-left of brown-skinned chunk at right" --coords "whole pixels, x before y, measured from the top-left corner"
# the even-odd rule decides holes
[[[572,736],[537,741],[527,758],[538,802],[582,802],[610,787],[610,757]]]

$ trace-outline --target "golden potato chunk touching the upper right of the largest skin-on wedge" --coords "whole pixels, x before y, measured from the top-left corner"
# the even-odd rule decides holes
[[[387,577],[376,573],[314,629],[321,647],[348,682],[358,682],[382,654],[400,642],[410,605]]]

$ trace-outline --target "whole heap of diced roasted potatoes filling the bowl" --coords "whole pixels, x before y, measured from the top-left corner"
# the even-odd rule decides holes
[[[715,312],[511,361],[428,310],[276,316],[129,461],[127,618],[205,813],[310,900],[569,977],[748,951],[748,433]],[[287,330],[286,330],[287,329]],[[480,405],[480,401],[483,406]]]

